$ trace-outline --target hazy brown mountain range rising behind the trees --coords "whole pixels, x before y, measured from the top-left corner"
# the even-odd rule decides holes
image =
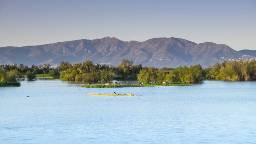
[[[252,59],[256,51],[235,51],[225,44],[205,42],[196,44],[180,38],[153,38],[144,42],[121,41],[104,37],[95,40],[75,40],[23,47],[0,47],[0,63],[23,63],[39,65],[44,63],[71,63],[86,59],[94,63],[112,66],[120,64],[122,58],[132,60],[142,66],[178,67],[201,64],[203,67],[214,65],[224,59]]]

